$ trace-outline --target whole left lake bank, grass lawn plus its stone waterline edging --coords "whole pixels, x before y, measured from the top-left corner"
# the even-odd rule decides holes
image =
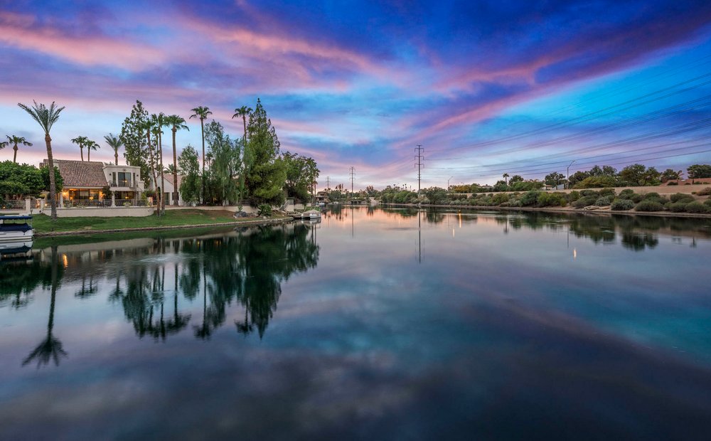
[[[178,228],[218,227],[228,225],[255,225],[291,221],[289,217],[234,218],[230,211],[182,209],[167,210],[165,216],[145,218],[85,217],[57,218],[52,221],[45,214],[33,218],[36,236],[72,235],[84,233],[117,233],[143,230],[173,230]]]

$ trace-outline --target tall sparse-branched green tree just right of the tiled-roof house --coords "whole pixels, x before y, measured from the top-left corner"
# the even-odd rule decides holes
[[[150,180],[148,163],[150,155],[146,154],[147,142],[150,137],[150,129],[146,128],[149,120],[148,111],[144,109],[143,103],[136,100],[136,104],[131,109],[131,115],[126,117],[121,124],[119,136],[124,144],[126,164],[141,167],[141,179],[146,182]],[[149,132],[148,136],[146,136],[146,132]]]

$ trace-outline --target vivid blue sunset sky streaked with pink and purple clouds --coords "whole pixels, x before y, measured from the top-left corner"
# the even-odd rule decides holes
[[[112,161],[136,100],[239,137],[257,98],[319,188],[353,167],[355,188],[417,189],[418,144],[422,188],[711,163],[709,1],[1,1],[0,53],[0,136],[30,164],[43,133],[18,102],[65,106],[55,158],[84,135]],[[201,145],[188,124],[178,151]]]

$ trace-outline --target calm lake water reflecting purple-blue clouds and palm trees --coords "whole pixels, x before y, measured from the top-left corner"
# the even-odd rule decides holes
[[[345,208],[0,263],[0,438],[708,439],[711,222]]]

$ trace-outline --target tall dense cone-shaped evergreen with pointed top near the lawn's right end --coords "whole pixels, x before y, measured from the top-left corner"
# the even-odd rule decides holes
[[[251,162],[246,171],[247,189],[257,205],[281,205],[284,203],[282,188],[287,180],[287,171],[279,157],[277,132],[258,98],[255,111],[250,115],[247,134]]]

